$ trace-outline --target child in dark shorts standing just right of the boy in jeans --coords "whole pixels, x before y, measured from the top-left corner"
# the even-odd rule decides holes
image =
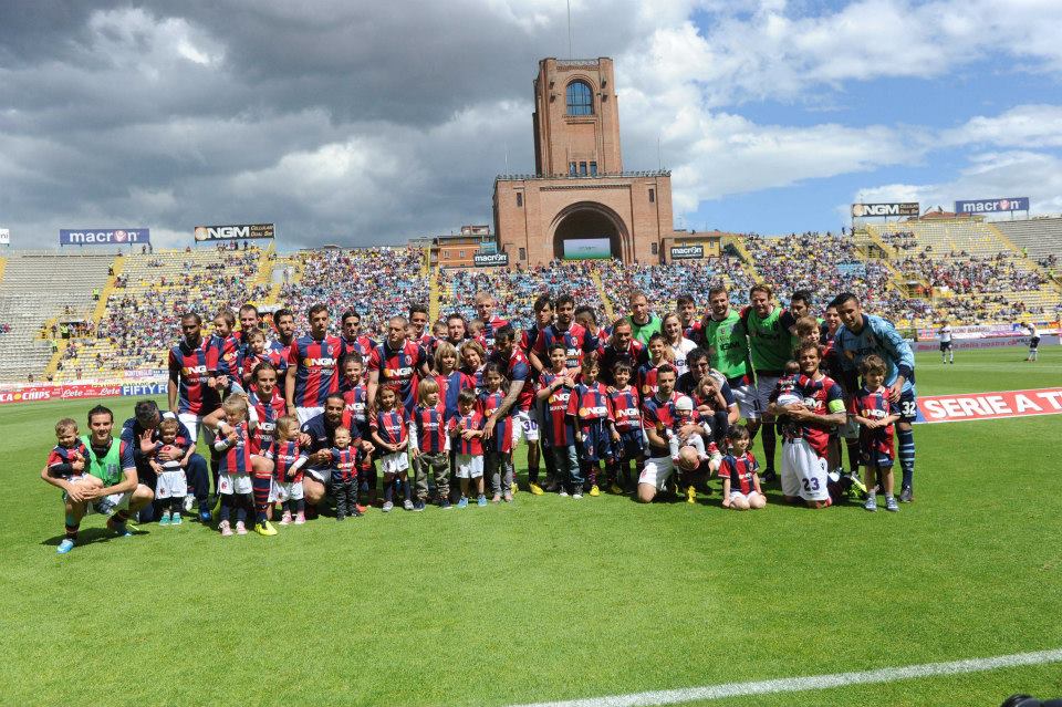
[[[590,484],[590,495],[601,496],[597,487],[597,465],[612,458],[612,435],[616,418],[612,412],[608,392],[597,382],[601,366],[596,358],[583,358],[582,381],[572,388],[568,398],[568,416],[572,418],[575,441],[579,445],[580,469]]]

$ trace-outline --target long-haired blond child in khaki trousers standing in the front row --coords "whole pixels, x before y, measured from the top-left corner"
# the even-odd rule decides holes
[[[439,399],[439,384],[433,378],[421,381],[417,402],[409,423],[409,454],[413,456],[417,485],[417,500],[413,510],[424,510],[428,500],[429,474],[435,476],[439,508],[449,510],[450,438],[446,434],[446,408]]]

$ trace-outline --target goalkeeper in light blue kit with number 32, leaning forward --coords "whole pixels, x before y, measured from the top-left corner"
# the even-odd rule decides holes
[[[864,314],[858,298],[851,292],[839,294],[834,302],[841,316],[834,346],[841,355],[845,374],[845,395],[851,398],[860,389],[856,378],[863,358],[876,354],[885,361],[885,387],[889,391],[889,399],[899,407],[899,420],[896,423],[899,441],[897,456],[904,472],[899,500],[909,503],[915,498],[915,433],[912,423],[918,416],[915,354],[892,323],[881,316]]]

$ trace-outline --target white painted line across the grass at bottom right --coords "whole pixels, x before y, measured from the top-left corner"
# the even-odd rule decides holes
[[[683,703],[704,699],[771,695],[775,693],[798,693],[830,687],[845,687],[847,685],[893,683],[896,680],[909,680],[936,675],[982,673],[999,668],[1042,665],[1045,663],[1062,663],[1062,648],[1035,651],[1033,653],[1014,653],[1012,655],[999,655],[990,658],[969,658],[966,661],[952,661],[951,663],[906,665],[858,673],[834,673],[832,675],[809,675],[805,677],[787,677],[750,683],[726,683],[722,685],[707,685],[705,687],[684,687],[680,689],[632,693],[629,695],[613,695],[610,697],[587,697],[585,699],[534,703],[517,705],[514,707],[644,707],[646,705],[680,705]]]

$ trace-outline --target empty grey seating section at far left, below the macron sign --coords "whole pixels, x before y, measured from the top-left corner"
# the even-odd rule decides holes
[[[0,322],[10,331],[0,336],[0,381],[41,380],[52,358],[51,324],[87,319],[93,290],[107,282],[113,254],[66,256],[53,251],[12,251],[0,282]],[[42,337],[42,326],[49,337]],[[58,345],[58,342],[56,342]]]

